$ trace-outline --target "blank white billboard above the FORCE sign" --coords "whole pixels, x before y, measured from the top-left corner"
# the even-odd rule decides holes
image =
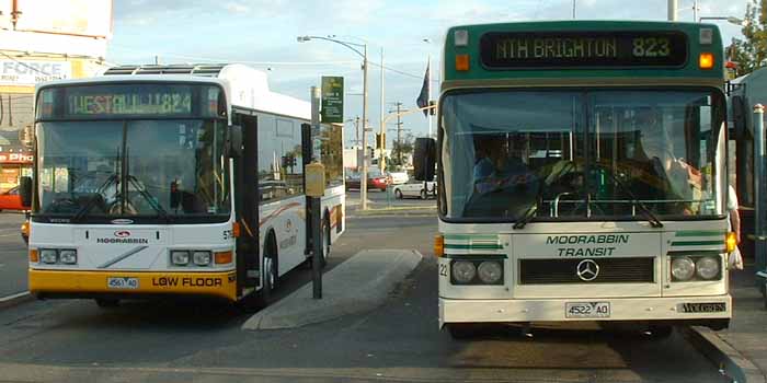
[[[112,36],[112,0],[15,0],[15,2],[16,11],[20,12],[15,31],[103,38]]]

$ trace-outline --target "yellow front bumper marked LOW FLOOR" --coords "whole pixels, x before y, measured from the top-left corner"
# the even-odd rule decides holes
[[[30,269],[38,298],[203,295],[237,300],[234,270],[219,272],[72,271]]]

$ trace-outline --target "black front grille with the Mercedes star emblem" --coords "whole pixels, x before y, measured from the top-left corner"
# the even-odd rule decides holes
[[[519,285],[653,283],[654,260],[653,257],[520,259]],[[579,268],[585,271],[581,276]]]

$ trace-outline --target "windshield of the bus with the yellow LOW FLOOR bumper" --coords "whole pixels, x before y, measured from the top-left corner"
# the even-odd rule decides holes
[[[36,213],[226,219],[225,127],[213,119],[38,123]]]

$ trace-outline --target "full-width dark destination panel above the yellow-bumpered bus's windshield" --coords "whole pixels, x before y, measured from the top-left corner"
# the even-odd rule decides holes
[[[216,117],[226,114],[218,86],[92,84],[41,91],[38,118]]]

